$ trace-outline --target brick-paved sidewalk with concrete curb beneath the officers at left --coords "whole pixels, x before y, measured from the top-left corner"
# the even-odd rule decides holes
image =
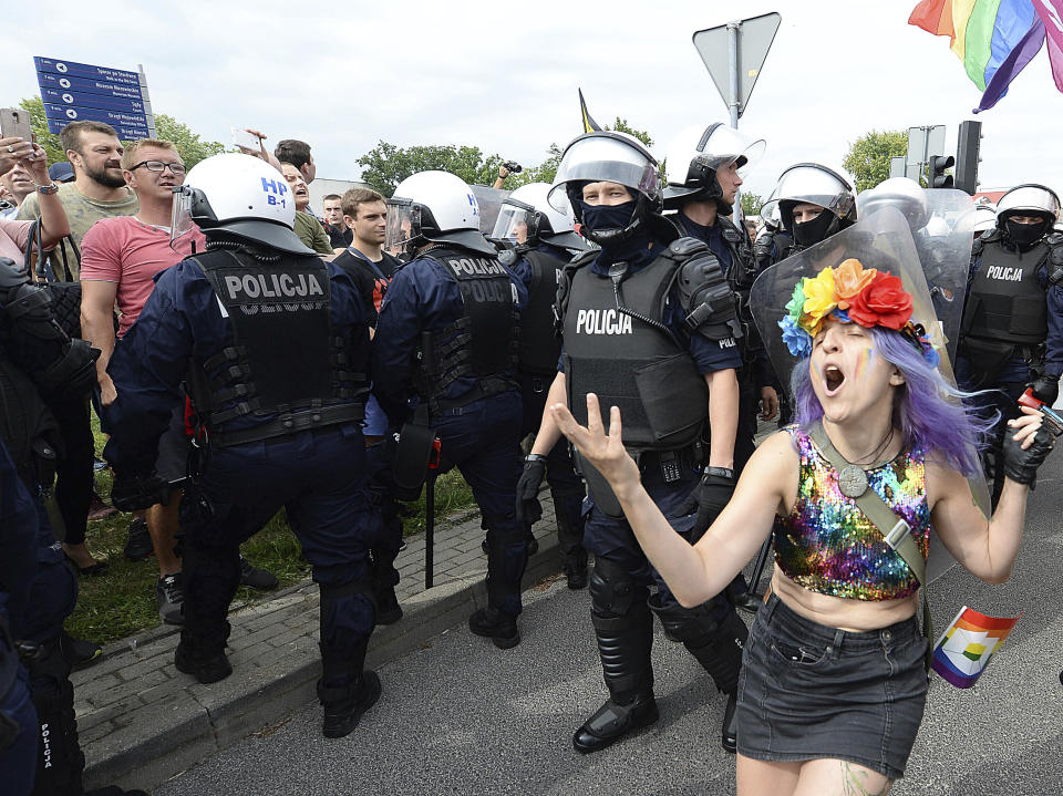
[[[528,561],[525,590],[560,571],[556,526],[546,521],[553,520],[547,503],[548,498],[544,521],[535,528],[539,550]],[[400,567],[407,591],[404,595],[400,583],[403,618],[375,630],[367,666],[419,649],[463,626],[469,613],[486,604],[479,516],[444,533],[448,547],[441,546],[436,531],[434,588],[422,590],[423,567],[420,571],[415,564]],[[474,549],[463,550],[471,545]],[[407,546],[423,565],[423,536],[409,538]],[[110,644],[101,663],[75,672],[79,727],[89,761],[85,787],[151,789],[250,733],[269,733],[317,701],[320,661],[313,583],[289,587],[267,602],[237,609],[229,619],[234,674],[219,683],[200,685],[176,672],[173,651],[178,637],[176,629],[165,627]]]

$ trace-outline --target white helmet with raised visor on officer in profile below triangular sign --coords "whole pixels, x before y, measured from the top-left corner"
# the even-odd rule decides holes
[[[678,208],[687,201],[721,199],[723,189],[716,172],[734,164],[739,176],[744,177],[763,154],[763,138],[750,138],[720,122],[684,128],[668,147],[664,206]],[[721,213],[732,211],[731,205],[718,204]]]

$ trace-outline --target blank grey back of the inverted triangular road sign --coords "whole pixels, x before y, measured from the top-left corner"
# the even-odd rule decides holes
[[[727,107],[736,106],[741,117],[750,102],[750,94],[764,66],[767,51],[775,40],[775,33],[782,22],[777,13],[766,13],[752,19],[739,20],[694,33],[694,48],[705,62],[712,82],[716,84],[720,96]],[[735,46],[737,49],[737,85],[732,84],[732,29],[737,29]],[[736,92],[733,92],[734,89]],[[736,95],[735,95],[736,94]],[[737,126],[737,125],[732,125]]]

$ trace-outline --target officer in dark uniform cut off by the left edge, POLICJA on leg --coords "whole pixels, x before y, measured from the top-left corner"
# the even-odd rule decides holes
[[[44,509],[62,447],[44,402],[86,399],[96,354],[70,340],[48,293],[0,258],[0,781],[14,796],[84,793],[62,650],[78,579]]]

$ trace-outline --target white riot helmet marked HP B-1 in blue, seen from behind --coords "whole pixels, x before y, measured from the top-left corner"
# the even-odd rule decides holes
[[[200,161],[174,188],[171,246],[197,225],[207,238],[225,234],[292,255],[314,255],[292,231],[296,203],[283,175],[250,155]]]

